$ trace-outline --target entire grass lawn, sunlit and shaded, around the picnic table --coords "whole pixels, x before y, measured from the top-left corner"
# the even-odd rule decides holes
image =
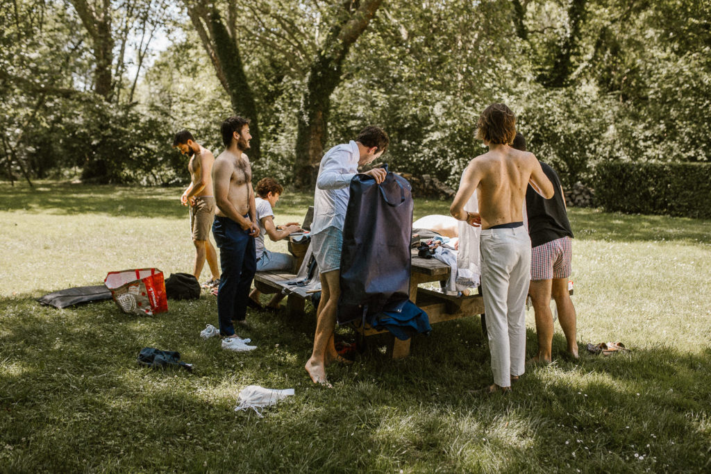
[[[303,321],[249,312],[240,335],[258,349],[235,353],[198,336],[217,323],[212,296],[153,318],[34,301],[113,270],[191,271],[180,194],[0,184],[0,472],[711,470],[711,221],[570,210],[581,358],[562,357],[556,326],[554,363],[483,398],[469,394],[491,381],[476,317],[435,325],[407,360],[376,348],[329,367],[325,389],[303,368],[309,306]],[[311,199],[285,194],[277,221],[300,221]],[[415,218],[448,206],[416,200]],[[532,311],[527,323],[531,356]],[[584,350],[603,341],[632,351]],[[139,367],[144,346],[179,350],[195,372]],[[264,418],[233,411],[249,384],[296,394]]]

